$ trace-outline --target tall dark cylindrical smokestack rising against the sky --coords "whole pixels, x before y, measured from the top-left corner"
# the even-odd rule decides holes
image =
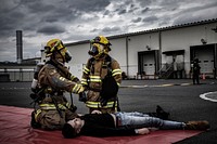
[[[21,64],[23,60],[23,39],[22,30],[16,30],[16,62]]]

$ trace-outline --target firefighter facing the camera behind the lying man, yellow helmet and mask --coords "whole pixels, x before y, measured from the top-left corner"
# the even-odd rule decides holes
[[[91,42],[86,67],[84,68],[81,83],[86,88],[86,103],[89,113],[94,109],[102,113],[119,110],[117,92],[122,82],[122,70],[116,60],[108,55],[110,41],[103,37],[95,37]]]

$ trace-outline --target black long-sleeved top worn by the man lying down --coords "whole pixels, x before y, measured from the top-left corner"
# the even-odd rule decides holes
[[[129,127],[115,127],[110,114],[87,114],[80,117],[85,120],[80,134],[88,136],[124,136],[136,135],[135,129]]]

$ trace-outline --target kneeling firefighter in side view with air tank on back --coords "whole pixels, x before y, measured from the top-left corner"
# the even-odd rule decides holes
[[[72,56],[63,42],[60,39],[48,41],[44,53],[50,60],[36,70],[31,84],[34,93],[30,97],[35,102],[31,127],[55,130],[61,129],[65,121],[77,117],[76,106],[73,102],[67,102],[64,92],[69,92],[72,100],[72,93],[85,93],[79,79],[65,66]]]

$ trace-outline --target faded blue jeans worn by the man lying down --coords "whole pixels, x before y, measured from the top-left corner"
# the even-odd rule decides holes
[[[125,113],[117,112],[114,114],[117,120],[120,121],[122,126],[141,126],[141,127],[154,127],[164,130],[177,130],[183,129],[186,126],[184,122],[177,122],[170,120],[163,120],[155,117],[150,117],[146,114],[133,112],[133,113]]]

